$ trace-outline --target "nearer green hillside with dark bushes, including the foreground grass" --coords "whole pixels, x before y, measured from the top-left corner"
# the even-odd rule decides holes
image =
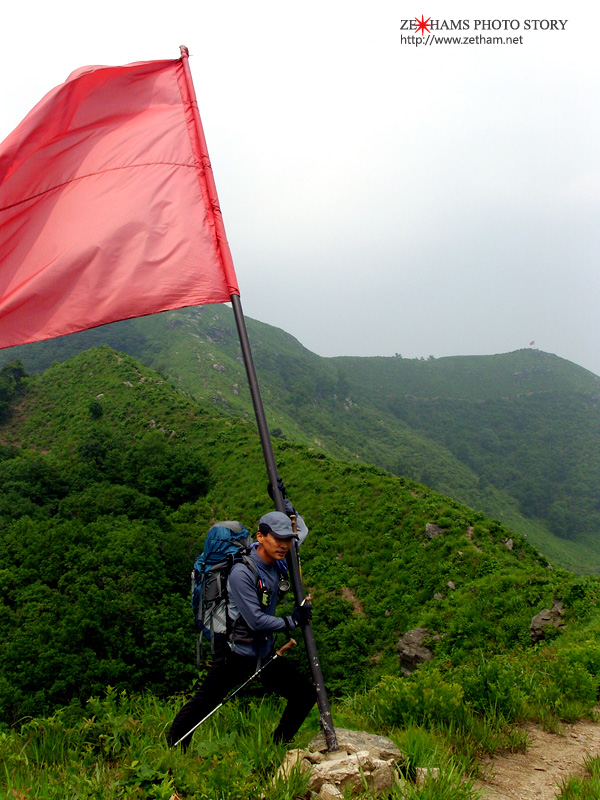
[[[293,781],[273,785],[272,701],[228,707],[187,755],[163,743],[180,699],[160,698],[194,677],[192,559],[216,519],[253,527],[270,508],[254,424],[107,347],[41,377],[8,370],[0,386],[7,795],[297,796]],[[463,778],[476,756],[522,746],[513,722],[591,713],[598,579],[552,568],[497,520],[422,484],[283,439],[275,452],[311,528],[304,583],[336,724],[443,767],[438,785],[395,799],[473,798]],[[555,600],[566,630],[533,645],[531,618]],[[418,626],[434,659],[407,680],[396,646]],[[302,740],[316,727],[313,714]]]

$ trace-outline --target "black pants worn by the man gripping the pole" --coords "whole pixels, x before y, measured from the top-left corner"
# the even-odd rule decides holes
[[[270,657],[263,659],[263,663]],[[186,750],[192,738],[191,735],[186,736],[186,733],[216,708],[230,692],[247,680],[256,671],[256,667],[256,658],[240,656],[230,652],[229,648],[227,652],[219,648],[200,688],[173,720],[171,730],[167,734],[169,745],[173,746],[185,736],[181,747]],[[262,683],[265,691],[285,697],[288,701],[273,733],[273,739],[278,742],[290,741],[317,699],[312,683],[307,681],[293,664],[279,657],[265,667],[256,677],[256,681]]]

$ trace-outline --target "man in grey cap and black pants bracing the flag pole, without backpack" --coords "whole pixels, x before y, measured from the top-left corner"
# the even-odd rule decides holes
[[[282,575],[278,565],[285,561],[295,540],[303,540],[308,533],[301,517],[298,517],[298,530],[299,536],[287,514],[280,511],[261,517],[256,534],[258,545],[252,548],[249,556],[256,573],[239,562],[234,564],[227,581],[228,613],[233,621],[231,641],[220,642],[202,685],[175,717],[167,736],[171,746],[184,737],[181,746],[187,749],[191,735],[186,734],[236,686],[267,664],[274,654],[275,633],[287,634],[311,618],[311,607],[306,604],[295,607],[290,616],[275,616]],[[259,680],[266,691],[288,701],[273,739],[290,741],[317,699],[312,683],[284,658],[269,663]]]

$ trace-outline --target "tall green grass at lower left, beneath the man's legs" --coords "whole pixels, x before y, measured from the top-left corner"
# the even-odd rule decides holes
[[[305,778],[274,780],[285,748],[271,741],[278,703],[234,702],[198,731],[183,753],[165,731],[181,698],[160,701],[109,690],[84,708],[71,705],[0,733],[1,797],[287,800]],[[314,723],[313,723],[314,724]]]

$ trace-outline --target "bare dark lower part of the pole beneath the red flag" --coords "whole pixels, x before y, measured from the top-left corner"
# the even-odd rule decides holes
[[[239,295],[231,295],[231,303],[233,306],[233,314],[235,317],[235,324],[238,329],[238,336],[242,348],[242,357],[244,359],[244,366],[246,367],[246,375],[248,376],[248,385],[250,386],[250,395],[252,396],[252,404],[254,406],[254,413],[256,415],[256,422],[258,425],[258,433],[260,442],[263,449],[263,456],[267,466],[267,475],[271,486],[273,487],[273,500],[277,511],[285,513],[285,505],[283,497],[277,485],[277,466],[275,464],[275,455],[273,454],[273,446],[271,444],[271,437],[269,435],[269,428],[267,426],[267,419],[262,404],[260,390],[258,388],[258,380],[256,378],[256,370],[254,369],[254,360],[252,358],[252,351],[250,350],[250,341],[248,339],[248,331],[246,329],[246,321],[242,312],[242,304]],[[300,578],[300,568],[298,565],[298,554],[296,548],[292,547],[287,555],[287,562],[289,568],[292,589],[294,591],[294,600],[296,605],[301,606],[304,603],[304,587]],[[319,716],[321,720],[321,727],[325,734],[325,741],[327,749],[337,750],[337,737],[335,728],[333,727],[333,720],[331,718],[331,711],[329,709],[329,700],[327,699],[327,692],[325,690],[325,681],[323,680],[323,673],[321,671],[321,664],[319,663],[319,656],[317,653],[317,645],[313,634],[312,626],[309,621],[302,625],[302,635],[304,636],[304,645],[306,647],[306,654],[308,656],[308,663],[312,673],[313,682],[317,691],[317,705],[319,707]]]

